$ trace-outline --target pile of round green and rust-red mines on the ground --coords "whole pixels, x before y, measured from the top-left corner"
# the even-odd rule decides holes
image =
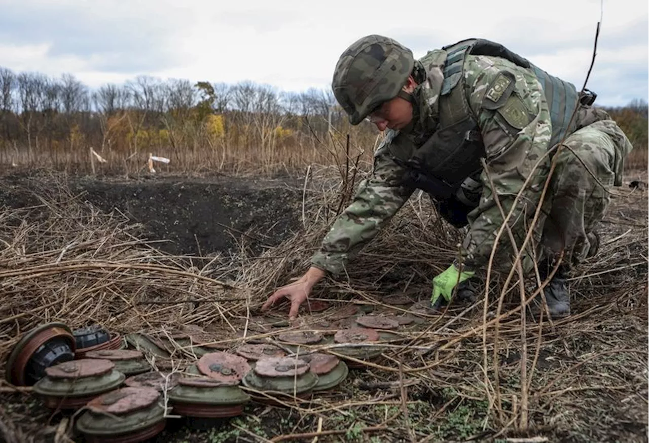
[[[416,323],[416,313],[401,311],[350,306],[299,329],[258,317],[227,333],[182,325],[120,335],[101,325],[71,331],[47,323],[14,346],[6,379],[33,385],[55,411],[84,409],[76,429],[88,442],[135,443],[160,433],[168,416],[221,420],[250,401],[290,405],[336,390],[350,369],[379,362],[385,344]]]

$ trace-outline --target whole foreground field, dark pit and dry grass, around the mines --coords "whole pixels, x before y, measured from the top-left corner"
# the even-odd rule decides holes
[[[273,288],[304,271],[367,170],[354,166],[342,169],[343,179],[332,168],[273,179],[7,171],[0,359],[21,333],[49,321],[100,323],[122,334],[194,324],[236,348],[234,331],[252,327]],[[504,275],[492,275],[487,299],[421,314],[417,329],[404,329],[380,359],[331,392],[286,407],[249,403],[243,415],[206,429],[169,418],[155,441],[649,441],[649,195],[628,187],[643,178],[628,171],[615,189],[602,247],[571,281],[569,318],[522,318],[517,282],[504,286]],[[275,340],[350,306],[402,312],[385,297],[426,299],[461,234],[413,196],[347,277],[319,286],[313,297],[332,301],[328,310],[249,334]],[[272,314],[284,318],[284,309]],[[167,362],[175,370],[193,361],[176,351]],[[83,441],[74,420],[3,380],[7,442]]]

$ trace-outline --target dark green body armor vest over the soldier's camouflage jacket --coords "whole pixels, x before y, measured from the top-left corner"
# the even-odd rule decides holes
[[[506,47],[488,40],[463,40],[442,49],[447,57],[438,99],[437,129],[419,146],[406,137],[399,137],[398,141],[393,141],[390,152],[397,162],[407,167],[404,179],[413,186],[428,192],[436,200],[459,199],[474,208],[482,191],[480,186],[476,192],[476,182],[480,180],[485,147],[467,100],[463,69],[467,55],[506,58],[535,73],[543,86],[552,118],[552,139],[548,149],[574,131],[574,124],[569,127],[569,121],[578,106],[579,93],[569,82],[549,75]],[[463,188],[471,188],[471,193]],[[467,194],[472,194],[473,198]]]

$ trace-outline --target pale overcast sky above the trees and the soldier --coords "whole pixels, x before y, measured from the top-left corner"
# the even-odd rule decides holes
[[[601,105],[649,99],[649,1],[604,0],[589,87]],[[329,88],[337,58],[366,34],[422,57],[471,37],[502,43],[582,86],[600,0],[0,0],[0,66],[91,87],[137,75]]]

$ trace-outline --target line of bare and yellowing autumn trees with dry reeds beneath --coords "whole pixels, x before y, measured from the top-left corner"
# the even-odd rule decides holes
[[[609,112],[637,147],[649,146],[649,104]],[[197,83],[140,76],[92,90],[73,75],[0,68],[0,163],[138,170],[153,153],[185,170],[293,170],[352,155],[371,160],[376,131],[350,127],[330,90]]]

